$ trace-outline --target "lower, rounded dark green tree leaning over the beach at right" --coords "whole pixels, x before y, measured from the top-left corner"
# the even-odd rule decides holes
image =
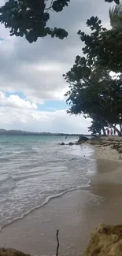
[[[75,65],[63,75],[69,83],[65,95],[68,113],[83,113],[85,117],[95,117],[101,124],[115,128],[113,124],[119,124],[122,113],[122,77],[111,77],[109,70],[97,64],[94,60],[91,65],[87,57],[76,56]]]

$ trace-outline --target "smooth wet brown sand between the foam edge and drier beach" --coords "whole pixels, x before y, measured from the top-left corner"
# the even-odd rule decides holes
[[[100,201],[82,190],[55,198],[23,220],[3,228],[0,244],[29,254],[52,255],[56,252],[59,229],[60,255],[81,255],[89,230],[96,224],[96,206],[99,208]]]

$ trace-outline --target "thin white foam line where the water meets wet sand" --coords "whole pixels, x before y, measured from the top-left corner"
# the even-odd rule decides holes
[[[31,208],[31,210],[28,210],[27,212],[23,213],[20,217],[16,217],[13,221],[8,221],[8,223],[6,223],[2,227],[0,227],[0,232],[2,231],[3,228],[8,226],[9,224],[12,224],[15,221],[19,221],[19,220],[23,219],[24,217],[26,217],[28,214],[32,213],[33,211],[38,210],[39,208],[45,206],[52,199],[60,198],[62,195],[65,195],[66,193],[71,192],[71,191],[76,191],[76,190],[82,189],[84,187],[90,187],[90,184],[91,184],[91,180],[88,180],[87,184],[83,184],[83,185],[77,186],[77,187],[72,187],[72,188],[67,189],[66,191],[61,191],[60,193],[57,193],[56,195],[48,196],[45,199],[45,201],[42,204],[40,204],[39,206],[35,206],[35,207]]]

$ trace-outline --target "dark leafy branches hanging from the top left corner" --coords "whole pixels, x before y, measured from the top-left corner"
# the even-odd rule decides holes
[[[9,35],[25,36],[29,43],[39,37],[50,35],[59,39],[68,36],[63,28],[46,26],[50,19],[50,10],[61,12],[70,0],[9,0],[0,8],[0,22],[9,28]]]

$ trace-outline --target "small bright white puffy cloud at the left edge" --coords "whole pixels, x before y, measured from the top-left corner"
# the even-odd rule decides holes
[[[9,95],[9,97],[6,97],[6,94],[2,91],[0,91],[0,103],[7,107],[15,107],[20,109],[37,109],[35,103],[24,100],[18,95]]]

